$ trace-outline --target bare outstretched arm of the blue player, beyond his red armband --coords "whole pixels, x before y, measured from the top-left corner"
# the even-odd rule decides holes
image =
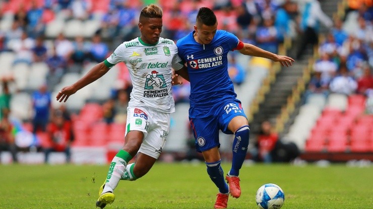
[[[292,62],[295,62],[294,59],[291,57],[274,54],[272,52],[266,51],[257,46],[254,46],[252,44],[247,44],[247,43],[243,44],[243,48],[240,49],[239,52],[244,55],[264,57],[274,62],[280,62],[282,66],[287,66],[287,67],[291,66]]]

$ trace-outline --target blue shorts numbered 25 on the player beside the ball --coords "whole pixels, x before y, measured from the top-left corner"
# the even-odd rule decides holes
[[[237,100],[226,100],[215,105],[210,115],[204,118],[189,118],[196,139],[196,150],[202,152],[220,147],[219,130],[224,134],[233,134],[228,130],[229,122],[236,116],[246,115]]]

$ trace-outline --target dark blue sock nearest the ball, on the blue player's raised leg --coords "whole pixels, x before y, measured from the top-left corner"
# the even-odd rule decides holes
[[[246,157],[249,137],[250,128],[248,126],[242,126],[234,133],[232,168],[229,171],[229,175],[238,176],[239,169],[241,169]]]

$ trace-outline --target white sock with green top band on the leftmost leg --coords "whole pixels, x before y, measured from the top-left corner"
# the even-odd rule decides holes
[[[107,172],[107,176],[106,176],[105,187],[102,193],[105,193],[108,191],[113,192],[115,187],[118,185],[120,177],[125,172],[128,162],[132,158],[133,157],[130,155],[130,153],[124,150],[120,150],[115,155],[115,157],[112,159],[110,163],[109,171]]]

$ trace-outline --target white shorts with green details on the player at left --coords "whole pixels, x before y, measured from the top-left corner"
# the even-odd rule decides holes
[[[170,130],[170,120],[169,113],[143,107],[128,107],[126,135],[135,130],[143,132],[144,141],[138,152],[158,159]]]

